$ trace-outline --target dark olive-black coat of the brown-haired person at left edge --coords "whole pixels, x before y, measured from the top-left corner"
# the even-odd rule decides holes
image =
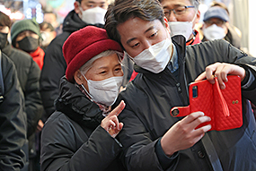
[[[3,48],[3,53],[13,61],[18,73],[25,98],[27,136],[30,137],[35,133],[43,111],[40,98],[40,68],[29,54],[11,47],[10,44]]]

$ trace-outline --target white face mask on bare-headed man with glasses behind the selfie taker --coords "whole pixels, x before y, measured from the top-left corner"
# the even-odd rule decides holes
[[[197,13],[192,21],[168,21],[169,28],[171,30],[171,37],[176,35],[182,35],[186,38],[186,41],[190,39],[193,32],[193,22],[197,17]]]

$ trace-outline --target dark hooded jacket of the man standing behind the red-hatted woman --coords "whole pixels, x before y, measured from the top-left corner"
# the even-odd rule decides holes
[[[79,18],[74,10],[71,11],[66,15],[63,22],[63,32],[52,40],[46,50],[40,76],[40,94],[46,111],[46,114],[43,115],[43,121],[55,110],[54,100],[57,98],[58,83],[66,73],[66,61],[62,53],[62,46],[71,33],[88,25]],[[102,24],[94,26],[103,27]]]

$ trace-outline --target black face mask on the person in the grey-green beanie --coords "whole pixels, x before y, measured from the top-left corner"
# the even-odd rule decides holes
[[[17,41],[19,48],[23,51],[31,53],[39,47],[39,39],[32,37],[25,37],[20,41]]]

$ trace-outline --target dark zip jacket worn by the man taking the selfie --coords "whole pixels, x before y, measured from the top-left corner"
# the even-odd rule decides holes
[[[256,58],[247,56],[225,40],[207,41],[188,47],[185,47],[184,38],[181,37],[172,38],[172,42],[178,54],[178,79],[167,67],[163,72],[155,74],[135,65],[137,78],[119,94],[116,102],[119,104],[123,99],[126,103],[119,115],[119,121],[125,126],[119,133],[118,140],[123,145],[124,152],[121,156],[128,170],[213,170],[201,140],[187,150],[174,153],[171,158],[165,156],[159,140],[181,119],[172,117],[170,110],[172,107],[189,105],[188,85],[209,64],[241,64],[256,76],[256,67],[247,65],[255,65]],[[243,126],[206,133],[224,171],[256,170],[256,124],[248,101],[256,103],[255,81],[251,87],[243,89],[242,93]]]

